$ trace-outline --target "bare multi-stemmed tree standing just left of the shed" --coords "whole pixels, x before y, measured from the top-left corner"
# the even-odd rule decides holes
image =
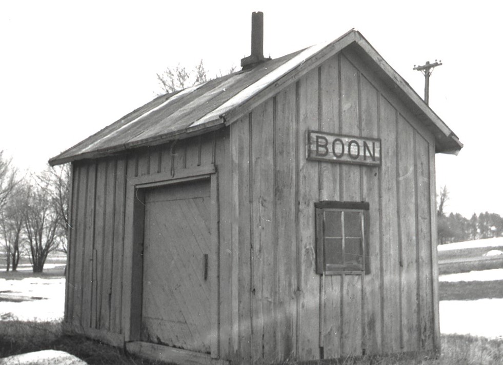
[[[30,263],[34,273],[44,270],[47,255],[56,250],[65,238],[61,213],[51,198],[51,185],[44,177],[28,190],[28,204],[24,210],[24,234],[28,244]]]

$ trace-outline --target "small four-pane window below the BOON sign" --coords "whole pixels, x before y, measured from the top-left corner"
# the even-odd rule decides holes
[[[368,202],[321,201],[316,209],[316,273],[369,273]]]

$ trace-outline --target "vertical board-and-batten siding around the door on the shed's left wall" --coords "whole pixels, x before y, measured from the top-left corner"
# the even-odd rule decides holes
[[[76,161],[72,167],[71,229],[67,267],[65,328],[123,346],[131,333],[131,227],[125,220],[130,180],[223,161],[228,129],[127,155]],[[221,189],[229,189],[224,183]],[[220,193],[224,195],[224,193]],[[225,213],[222,213],[225,218]],[[225,237],[225,236],[224,236]],[[133,329],[134,331],[135,329]]]

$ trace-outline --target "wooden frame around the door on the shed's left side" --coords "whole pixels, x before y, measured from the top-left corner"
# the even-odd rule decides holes
[[[131,178],[126,191],[126,234],[124,237],[123,323],[125,341],[140,341],[143,301],[143,241],[145,237],[145,193],[147,189],[165,187],[185,181],[210,180],[210,245],[208,278],[210,280],[210,354],[219,353],[219,231],[218,179],[214,165],[155,173]]]

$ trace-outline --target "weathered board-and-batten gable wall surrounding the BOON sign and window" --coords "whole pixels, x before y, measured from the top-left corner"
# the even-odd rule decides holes
[[[382,164],[306,160],[308,130],[380,138]],[[270,363],[439,348],[434,138],[356,55],[335,55],[235,121],[230,149],[222,355]],[[321,200],[369,202],[370,273],[315,273]]]

